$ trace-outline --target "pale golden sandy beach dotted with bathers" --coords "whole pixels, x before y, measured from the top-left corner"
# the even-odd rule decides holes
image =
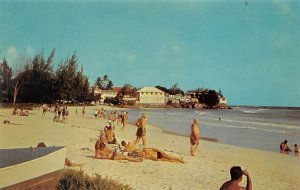
[[[94,159],[94,144],[99,130],[107,125],[106,120],[95,119],[89,114],[96,108],[100,107],[86,107],[86,114],[82,117],[81,107],[69,107],[68,123],[53,122],[53,113],[42,117],[41,108],[30,110],[28,117],[13,116],[12,109],[1,108],[0,148],[34,147],[39,142],[47,146],[66,146],[67,158],[76,163],[86,163],[83,167],[86,173],[118,179],[134,189],[219,189],[230,178],[229,169],[235,165],[249,171],[253,189],[300,188],[300,157],[203,140],[197,156],[192,157],[189,155],[188,137],[164,133],[154,126],[147,129],[148,147],[181,157],[184,164]],[[11,124],[3,124],[4,120],[9,120]],[[117,140],[132,141],[135,131],[134,125],[128,125],[125,131],[116,127]],[[245,185],[245,180],[242,185]]]

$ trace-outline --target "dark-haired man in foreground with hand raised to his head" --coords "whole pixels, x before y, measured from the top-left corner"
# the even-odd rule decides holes
[[[239,186],[243,179],[243,175],[247,177],[246,187]],[[240,166],[234,166],[230,169],[231,180],[226,181],[220,190],[252,190],[252,182],[247,170],[242,170]]]

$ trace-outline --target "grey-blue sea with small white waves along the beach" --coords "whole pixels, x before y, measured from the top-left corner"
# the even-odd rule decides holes
[[[187,136],[193,119],[198,118],[201,136],[225,144],[274,152],[279,152],[280,142],[285,139],[293,150],[294,144],[300,144],[300,108],[133,109],[128,112],[129,122],[146,112],[148,124]]]

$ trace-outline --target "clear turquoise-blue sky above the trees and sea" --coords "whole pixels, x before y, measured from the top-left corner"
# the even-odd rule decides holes
[[[93,84],[221,89],[231,105],[300,106],[300,1],[3,1],[0,58],[76,50]]]

